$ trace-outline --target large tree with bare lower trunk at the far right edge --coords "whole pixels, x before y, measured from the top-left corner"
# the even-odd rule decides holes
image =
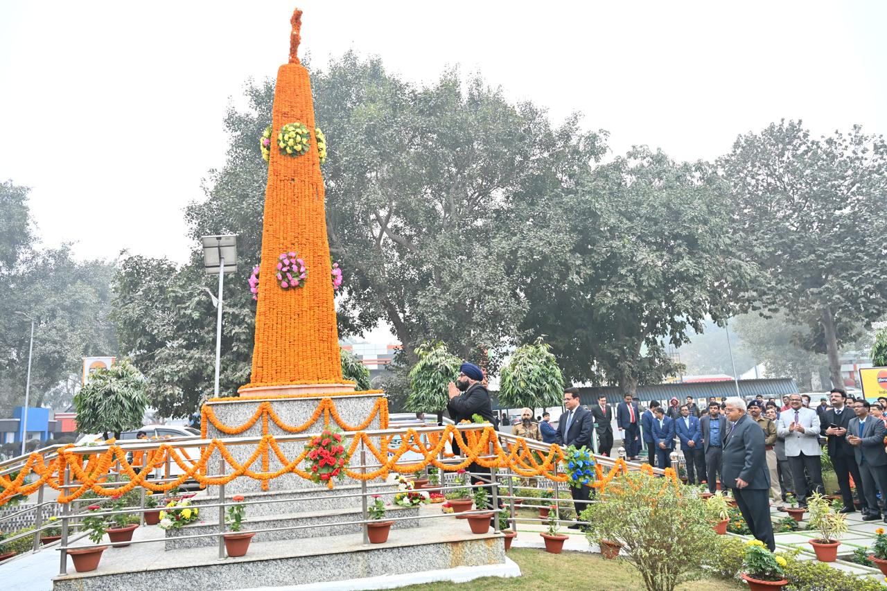
[[[825,353],[843,386],[838,351],[887,311],[883,261],[887,144],[859,126],[812,138],[800,121],[736,139],[719,165],[734,199],[742,254],[767,272],[760,305],[810,327],[805,347]]]

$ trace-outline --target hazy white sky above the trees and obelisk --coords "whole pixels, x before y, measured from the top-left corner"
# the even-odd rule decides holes
[[[315,65],[353,48],[417,83],[459,65],[555,121],[582,112],[617,153],[711,159],[782,117],[887,133],[887,3],[875,0],[6,0],[0,180],[32,187],[44,245],[184,261],[182,210],[224,162],[225,108],[287,60],[295,5]]]

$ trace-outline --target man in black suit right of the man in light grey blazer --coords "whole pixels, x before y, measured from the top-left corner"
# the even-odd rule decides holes
[[[831,398],[832,407],[821,414],[820,428],[822,435],[828,437],[828,456],[831,458],[832,466],[835,467],[837,484],[841,487],[841,496],[844,498],[844,508],[839,512],[853,513],[856,511],[853,508],[853,495],[850,490],[850,477],[853,477],[853,482],[856,483],[856,492],[860,495],[862,515],[865,516],[868,513],[868,503],[860,476],[860,466],[856,463],[853,446],[847,443],[846,437],[847,426],[856,414],[852,408],[846,406],[847,394],[844,390],[832,388],[828,393],[828,398]],[[819,410],[821,406],[816,408]]]

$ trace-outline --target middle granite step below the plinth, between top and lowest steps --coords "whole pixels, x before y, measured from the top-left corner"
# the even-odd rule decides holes
[[[216,513],[208,509],[206,519],[208,522],[196,522],[188,524],[177,530],[166,531],[166,549],[179,550],[182,548],[200,548],[201,546],[217,546],[218,540],[213,537],[184,538],[183,536],[200,535],[202,533],[215,533],[219,531],[216,522]],[[212,516],[210,516],[212,514]],[[415,517],[419,515],[418,507],[389,507],[386,516],[391,517]],[[327,509],[321,511],[303,511],[301,513],[253,517],[243,522],[243,531],[271,530],[270,532],[258,532],[253,541],[271,540],[299,540],[304,538],[326,538],[330,535],[342,535],[348,533],[360,533],[359,524],[342,524],[341,522],[359,521],[362,518],[360,508]],[[211,523],[216,522],[216,523]],[[408,529],[419,527],[419,519],[404,519],[392,524],[391,529]],[[319,527],[305,527],[302,529],[283,529],[294,525],[318,525]]]

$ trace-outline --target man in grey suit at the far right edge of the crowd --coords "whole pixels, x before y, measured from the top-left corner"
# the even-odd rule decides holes
[[[887,429],[880,419],[868,414],[867,400],[853,403],[853,417],[847,425],[847,443],[853,446],[856,463],[860,466],[862,490],[866,495],[868,513],[863,521],[875,521],[881,517],[875,486],[881,491],[881,498],[887,499],[887,454],[884,453],[884,434]],[[887,523],[887,517],[884,517]]]

